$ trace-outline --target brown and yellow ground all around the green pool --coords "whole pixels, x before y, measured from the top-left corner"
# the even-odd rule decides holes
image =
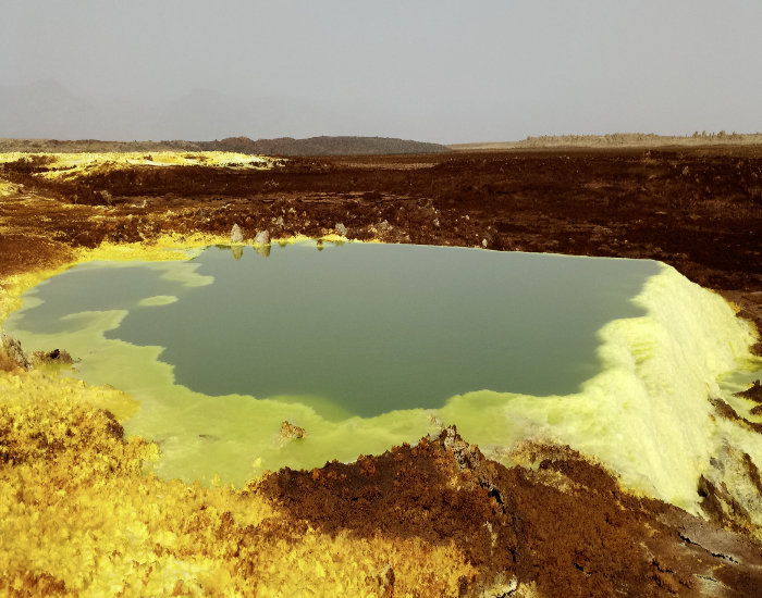
[[[244,244],[267,231],[659,260],[761,329],[759,136],[606,137],[300,155],[245,138],[0,140],[0,323],[73,263],[167,259],[237,225]],[[762,478],[743,451],[727,468],[749,491],[702,476],[697,514],[567,446],[524,443],[506,468],[447,422],[353,463],[188,485],[124,437],[131,398],[59,377],[56,349],[33,369],[0,353],[5,595],[762,595]],[[762,389],[741,398],[748,414],[716,400],[713,418],[762,434]]]

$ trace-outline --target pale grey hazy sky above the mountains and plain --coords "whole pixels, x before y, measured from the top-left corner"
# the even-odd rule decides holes
[[[4,0],[0,29],[0,85],[86,100],[275,96],[441,142],[762,130],[760,0]]]

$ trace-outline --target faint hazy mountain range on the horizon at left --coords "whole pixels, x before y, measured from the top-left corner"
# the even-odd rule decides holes
[[[198,90],[150,104],[84,100],[50,79],[0,86],[0,138],[210,141],[241,135],[306,138],[392,130],[382,128],[389,123],[381,116],[374,130],[367,130],[367,115],[356,111],[332,111],[287,98],[234,98]]]

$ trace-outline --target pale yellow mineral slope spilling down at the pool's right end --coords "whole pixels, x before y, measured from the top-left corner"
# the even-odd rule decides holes
[[[635,302],[647,314],[599,332],[603,371],[579,394],[482,390],[451,399],[439,416],[457,422],[464,437],[478,433],[486,450],[526,437],[569,445],[600,459],[623,486],[697,512],[699,477],[723,446],[745,447],[762,465],[760,435],[716,418],[709,400],[723,397],[723,375],[762,369],[748,349],[758,333],[722,297],[666,265]]]

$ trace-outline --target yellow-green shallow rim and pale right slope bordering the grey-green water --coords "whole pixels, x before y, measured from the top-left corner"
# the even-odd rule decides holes
[[[211,283],[193,262],[151,267],[164,269],[164,276],[181,278],[189,288]],[[722,298],[668,266],[660,270],[634,299],[643,315],[610,322],[599,331],[602,369],[578,393],[533,397],[480,390],[454,396],[439,409],[372,418],[349,416],[316,397],[255,400],[193,393],[175,384],[173,367],[159,361],[160,347],[106,338],[126,317],[125,310],[74,315],[71,332],[22,336],[30,349],[60,346],[74,356],[90,356],[71,375],[93,384],[108,382],[140,401],[126,429],[160,441],[163,457],[156,472],[162,476],[209,481],[219,473],[223,482],[241,484],[278,463],[309,468],[333,458],[353,460],[431,432],[433,416],[457,424],[465,437],[499,459],[523,438],[569,444],[598,457],[624,485],[693,510],[698,477],[710,472],[710,459],[723,446],[742,447],[762,465],[759,436],[713,418],[708,400],[728,394],[718,384],[723,376],[759,370],[760,361],[748,353],[752,329]],[[24,310],[34,307],[33,297]],[[146,309],[161,310],[170,299],[142,301]],[[12,319],[7,329],[14,327]],[[223,406],[235,413],[234,421],[209,418]],[[278,429],[284,420],[305,427],[308,437],[281,439]]]

